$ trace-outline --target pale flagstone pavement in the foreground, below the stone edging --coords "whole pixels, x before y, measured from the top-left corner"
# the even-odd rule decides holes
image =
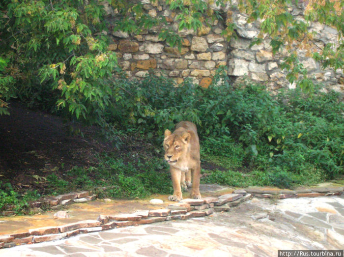
[[[227,212],[0,249],[0,257],[277,257],[343,250],[344,196],[252,198]]]

